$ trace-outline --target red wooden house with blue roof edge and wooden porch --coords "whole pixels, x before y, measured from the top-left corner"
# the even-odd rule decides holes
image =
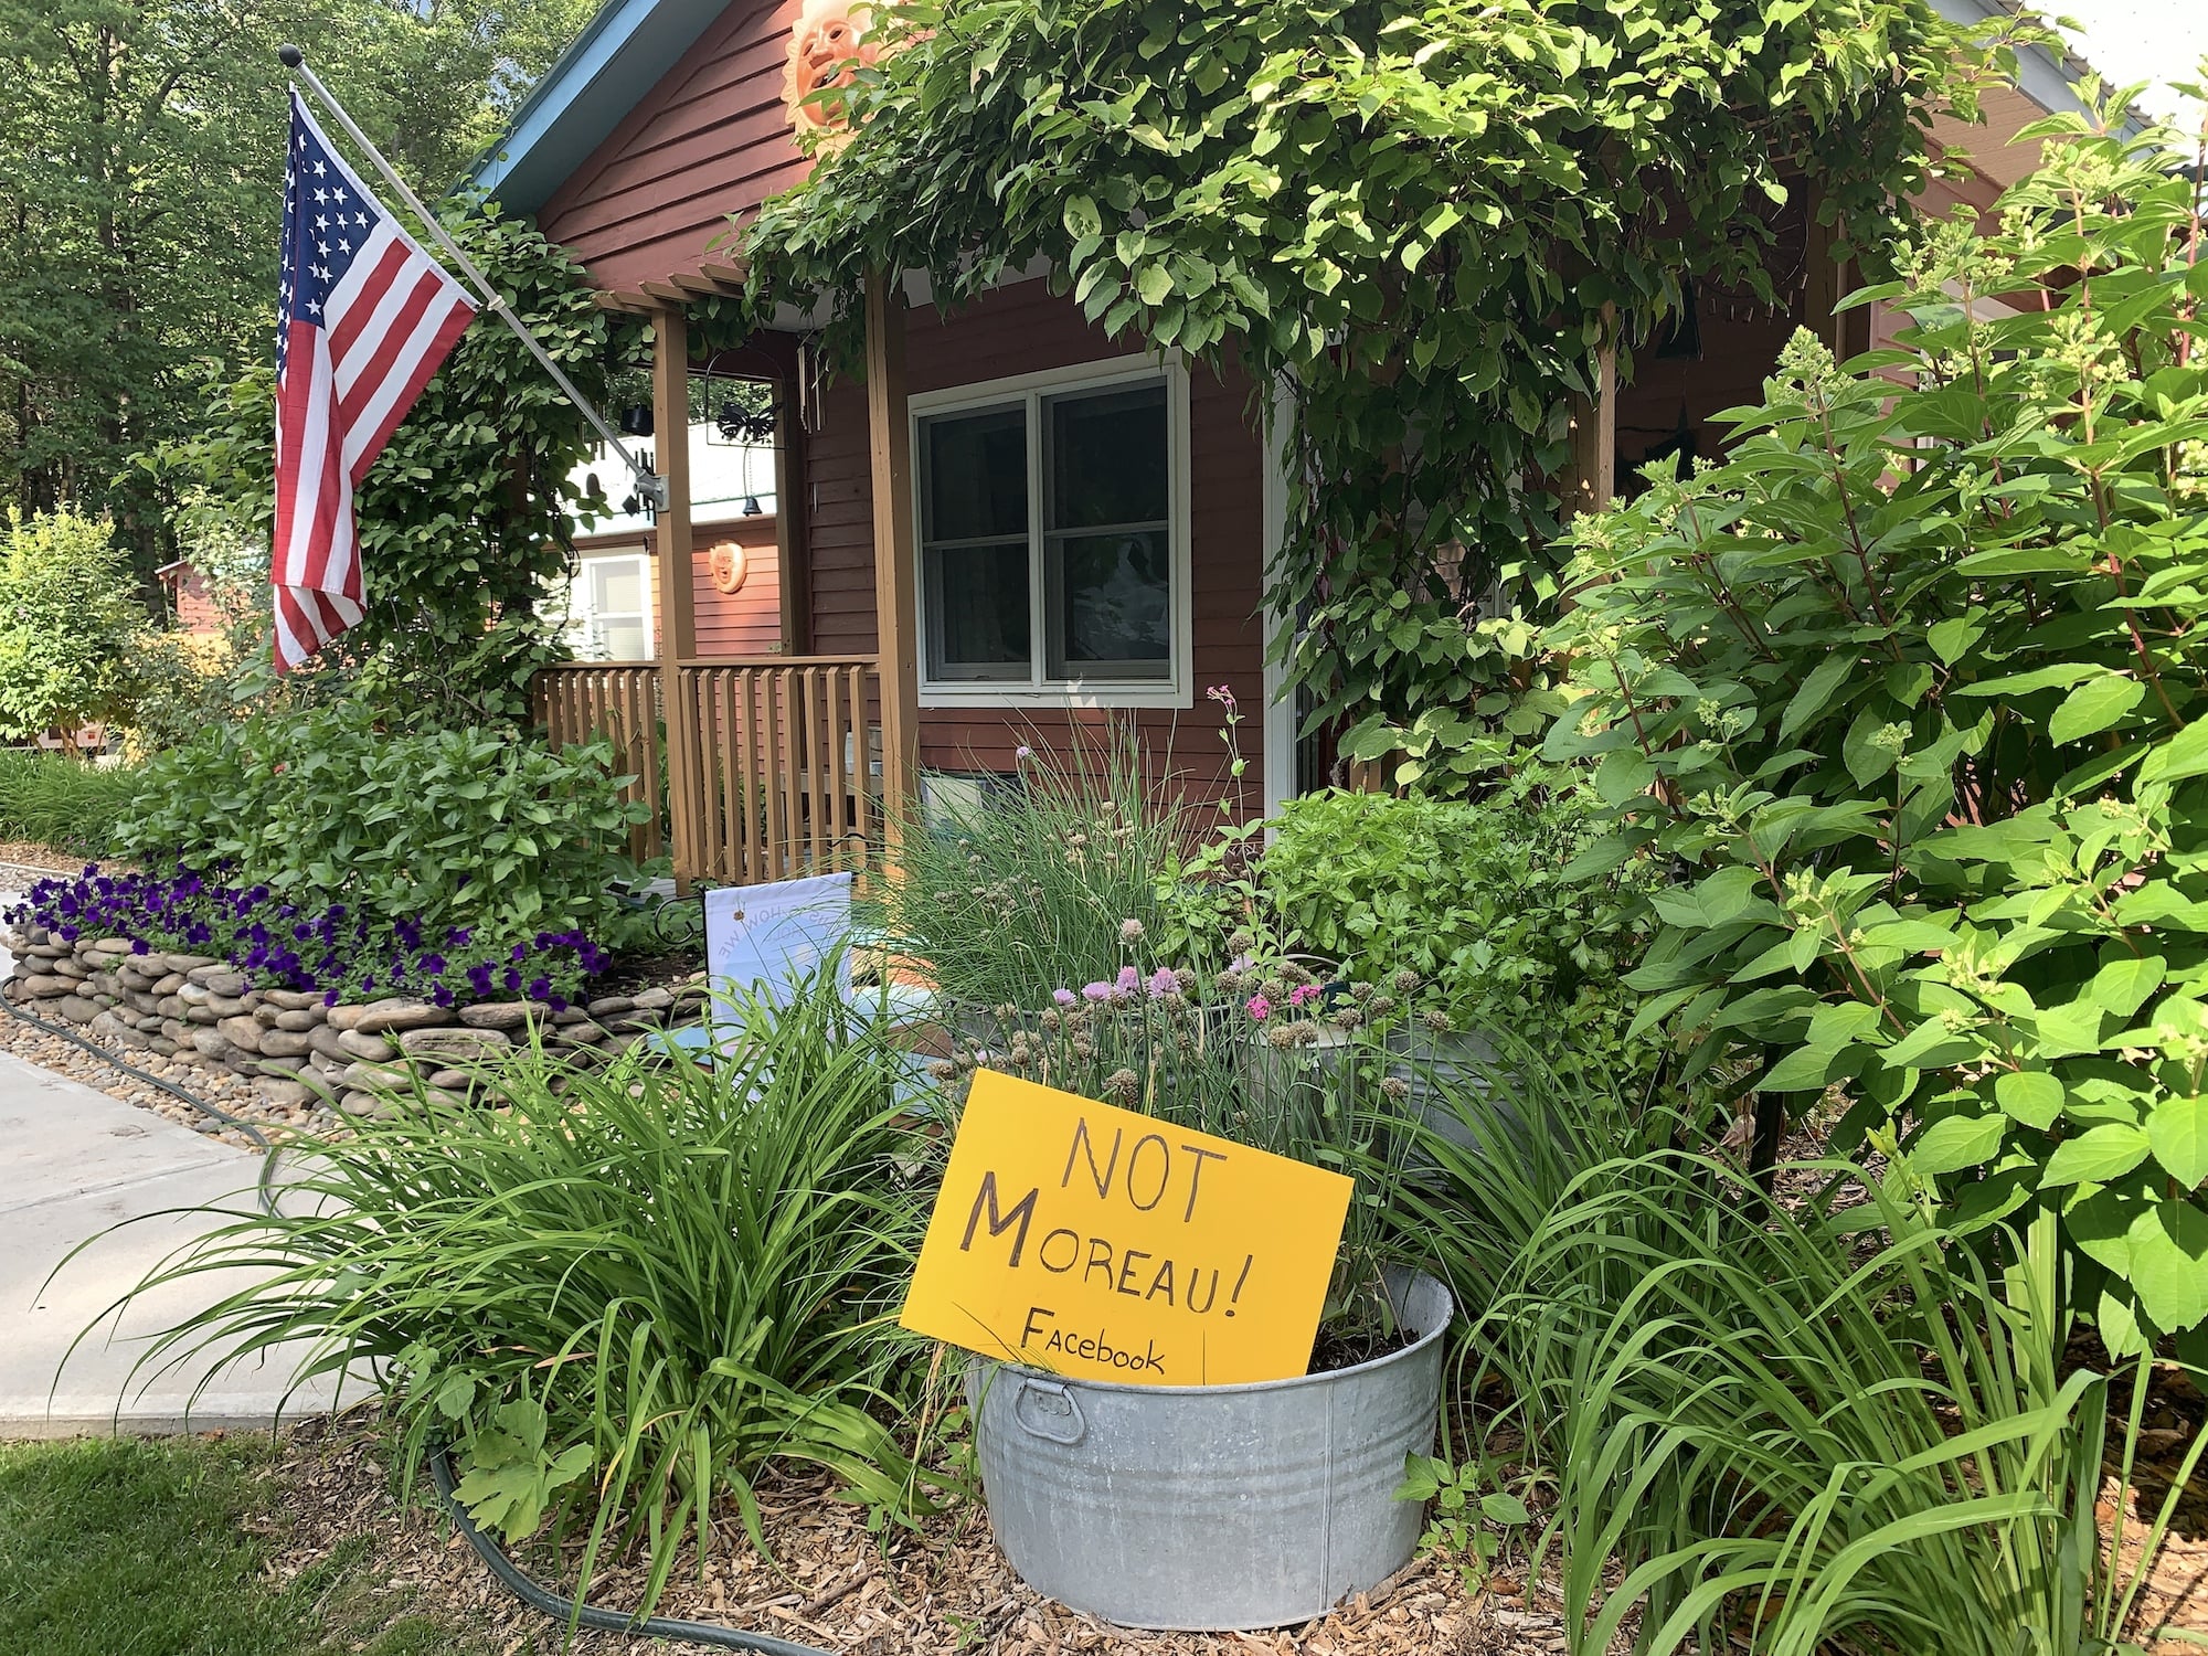
[[[1976,18],[2000,0],[1941,4]],[[689,395],[684,307],[742,283],[731,216],[804,177],[793,124],[817,106],[795,99],[848,51],[846,9],[609,0],[477,172],[583,263],[603,302],[651,318],[660,431],[680,428]],[[1992,203],[2036,159],[2007,135],[2078,108],[2078,68],[2027,57],[1987,130],[1954,135],[1978,159],[1941,194]],[[1844,333],[1875,327],[1868,314],[1833,316],[1846,274],[1806,214],[1791,247],[1784,307],[1698,294],[1696,349],[1652,355],[1588,411],[1579,501],[1607,499],[1621,461],[1713,453],[1707,422],[1755,395],[1793,327],[1868,342]],[[910,797],[925,773],[1009,771],[1022,742],[1117,711],[1183,786],[1219,790],[1217,684],[1263,707],[1243,726],[1245,808],[1325,779],[1265,667],[1278,618],[1263,567],[1285,488],[1252,386],[1130,355],[1042,274],[956,316],[916,274],[877,283],[863,382],[824,382],[797,316],[689,364],[775,384],[779,654],[715,647],[693,583],[658,581],[656,667],[561,669],[543,687],[561,729],[649,731],[665,709],[680,877],[762,879],[837,854],[870,826],[877,764],[879,788]],[[684,470],[667,457],[662,563],[691,550]]]

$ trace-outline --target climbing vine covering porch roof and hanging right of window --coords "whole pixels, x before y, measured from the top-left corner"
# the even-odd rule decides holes
[[[1682,272],[1771,298],[1751,208],[1804,185],[1875,263],[1932,110],[1972,117],[2014,51],[1930,0],[1000,0],[874,29],[848,141],[746,232],[751,305],[826,291],[850,349],[870,267],[956,305],[1042,256],[1111,333],[1285,386],[1281,647],[1351,749],[1510,704],[1605,316],[1630,364]]]

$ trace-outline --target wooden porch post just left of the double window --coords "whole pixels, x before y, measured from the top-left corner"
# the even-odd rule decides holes
[[[866,278],[866,426],[874,484],[874,636],[881,667],[883,843],[921,773],[921,656],[912,548],[912,426],[905,411],[905,296],[885,274]],[[861,757],[863,764],[863,757]]]

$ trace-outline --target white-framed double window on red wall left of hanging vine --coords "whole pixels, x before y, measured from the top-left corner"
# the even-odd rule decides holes
[[[923,698],[1186,707],[1186,453],[1139,358],[914,397]]]

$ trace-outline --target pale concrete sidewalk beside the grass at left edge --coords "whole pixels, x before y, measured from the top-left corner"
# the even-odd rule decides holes
[[[250,1429],[278,1409],[331,1406],[327,1382],[285,1402],[296,1354],[227,1369],[197,1402],[208,1358],[132,1378],[148,1336],[236,1292],[245,1272],[172,1283],[102,1320],[161,1259],[225,1223],[203,1210],[258,1212],[258,1155],[0,1053],[0,1437]],[[358,1395],[347,1387],[347,1402]]]

